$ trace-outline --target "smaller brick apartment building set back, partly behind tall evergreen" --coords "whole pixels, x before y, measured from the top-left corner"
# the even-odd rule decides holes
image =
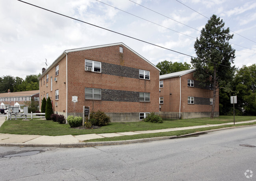
[[[160,76],[160,115],[176,114],[183,119],[210,117],[213,90],[201,88],[193,77],[196,69]],[[219,116],[219,91],[216,92],[214,116]]]

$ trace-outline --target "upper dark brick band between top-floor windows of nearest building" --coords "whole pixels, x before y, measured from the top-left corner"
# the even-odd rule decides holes
[[[125,67],[121,65],[115,65],[111,63],[101,62],[102,74],[128,77],[128,78],[139,78],[139,69],[132,67]]]

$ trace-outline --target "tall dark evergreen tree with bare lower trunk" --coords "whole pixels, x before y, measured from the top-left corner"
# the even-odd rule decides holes
[[[231,78],[234,68],[230,68],[234,63],[235,50],[228,42],[233,38],[233,34],[229,33],[229,28],[224,29],[223,20],[213,14],[194,44],[197,58],[191,58],[193,67],[197,69],[194,77],[200,81],[200,85],[211,85],[213,89],[211,118],[214,115],[216,90]]]

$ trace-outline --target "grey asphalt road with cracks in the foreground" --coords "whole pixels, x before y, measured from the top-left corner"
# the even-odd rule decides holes
[[[0,147],[0,180],[256,180],[256,147],[245,144],[256,146],[256,126],[129,145]]]

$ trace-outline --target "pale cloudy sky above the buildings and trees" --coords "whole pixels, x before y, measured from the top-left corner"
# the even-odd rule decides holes
[[[230,43],[236,49],[236,67],[256,63],[255,0],[24,1],[191,56],[196,56],[195,38],[200,36],[208,18],[216,14],[234,34]],[[49,66],[67,49],[118,42],[123,42],[154,65],[163,60],[182,63],[190,63],[191,60],[189,56],[18,0],[0,1],[0,22],[0,76],[24,79],[26,75],[41,73],[45,59]]]

